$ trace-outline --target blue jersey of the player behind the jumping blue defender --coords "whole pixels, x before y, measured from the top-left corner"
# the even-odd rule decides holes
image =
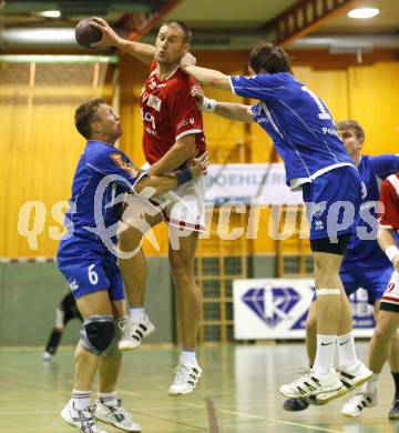
[[[355,266],[391,268],[391,262],[376,240],[376,205],[383,179],[399,171],[399,155],[361,157],[358,165],[361,179],[361,208],[357,233],[347,244],[341,271],[352,272]],[[361,240],[365,233],[374,233],[371,240]]]

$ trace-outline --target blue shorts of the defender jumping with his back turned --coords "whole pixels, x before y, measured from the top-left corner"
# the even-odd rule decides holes
[[[356,231],[361,204],[361,181],[354,167],[328,171],[303,188],[310,225],[310,240],[338,236]]]

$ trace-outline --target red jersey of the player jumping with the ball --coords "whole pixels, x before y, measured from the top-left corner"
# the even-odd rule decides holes
[[[178,68],[160,80],[157,69],[156,61],[153,61],[140,99],[145,159],[153,164],[187,134],[195,134],[197,154],[204,153],[202,113],[190,93],[196,81]]]

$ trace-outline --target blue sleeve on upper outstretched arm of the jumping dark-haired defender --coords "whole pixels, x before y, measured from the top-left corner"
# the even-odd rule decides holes
[[[258,75],[231,75],[231,88],[238,97],[253,99],[273,99],[285,88],[285,73],[262,73]]]

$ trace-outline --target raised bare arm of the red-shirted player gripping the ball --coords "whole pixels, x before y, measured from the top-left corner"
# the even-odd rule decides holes
[[[93,48],[103,46],[116,47],[120,50],[127,52],[127,54],[135,57],[145,64],[150,64],[154,59],[155,47],[149,43],[129,41],[119,37],[102,18],[93,17],[90,23],[99,29],[103,34],[99,42],[92,43]]]

